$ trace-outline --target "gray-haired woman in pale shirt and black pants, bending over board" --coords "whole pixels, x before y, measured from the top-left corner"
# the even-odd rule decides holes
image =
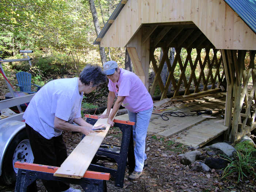
[[[99,66],[87,65],[79,78],[63,78],[48,82],[33,97],[23,118],[34,154],[34,163],[60,166],[67,158],[62,131],[92,132],[92,125],[81,118],[83,95],[106,82],[106,74]],[[77,125],[71,124],[75,122]],[[95,127],[100,128],[102,125]],[[48,192],[79,192],[69,184],[43,181]],[[37,191],[36,183],[29,191]]]

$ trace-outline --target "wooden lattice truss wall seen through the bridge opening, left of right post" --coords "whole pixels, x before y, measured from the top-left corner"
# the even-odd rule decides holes
[[[222,82],[225,73],[223,68],[222,56],[219,50],[197,48],[196,49],[197,55],[193,61],[191,56],[192,48],[187,48],[186,61],[182,62],[181,48],[175,48],[176,55],[173,60],[173,64],[171,64],[169,61],[168,49],[166,47],[162,47],[162,50],[163,50],[163,56],[160,59],[158,66],[157,66],[156,58],[154,57],[154,50],[150,51],[150,62],[152,63],[153,69],[155,72],[155,78],[154,78],[152,87],[150,89],[150,95],[153,95],[157,84],[159,85],[161,90],[161,99],[163,99],[167,97],[167,91],[170,83],[172,84],[172,87],[174,90],[173,97],[175,97],[179,95],[180,89],[183,89],[185,91],[184,95],[190,94],[190,88],[192,86],[192,82],[194,83],[194,93],[202,91],[202,90],[199,90],[200,84],[203,84],[203,91],[206,91],[209,89],[207,87],[208,84],[211,85],[210,89],[214,89],[216,87],[219,87],[220,82]],[[210,51],[211,53],[213,52],[213,56],[212,54],[210,55]],[[205,52],[205,58],[201,57],[202,52]],[[160,74],[165,62],[168,67],[169,75],[164,85]],[[220,67],[222,68],[222,70],[220,70]],[[188,76],[186,77],[186,74],[185,74],[187,68],[190,68],[191,70],[189,77]],[[213,71],[213,68],[216,69],[216,71]],[[178,81],[176,82],[174,71],[177,71],[177,70],[179,70],[180,76]],[[217,77],[218,77],[218,85],[215,87]]]

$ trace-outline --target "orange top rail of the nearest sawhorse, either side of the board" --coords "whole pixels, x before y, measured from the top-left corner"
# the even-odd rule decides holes
[[[34,171],[40,171],[40,172],[46,172],[46,173],[55,173],[59,168],[56,166],[39,165],[39,164],[25,163],[25,162],[19,162],[19,161],[15,162],[14,167],[19,169],[34,170]],[[84,174],[84,177],[100,179],[100,180],[109,180],[110,173],[86,171]]]

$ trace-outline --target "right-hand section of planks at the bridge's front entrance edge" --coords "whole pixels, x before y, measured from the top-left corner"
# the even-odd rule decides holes
[[[179,133],[175,137],[175,141],[184,145],[202,147],[228,129],[228,127],[223,126],[223,122],[223,120],[216,119],[205,120],[187,131]]]

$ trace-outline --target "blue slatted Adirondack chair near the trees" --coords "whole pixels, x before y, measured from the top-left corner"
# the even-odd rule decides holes
[[[16,78],[18,80],[18,84],[16,85],[20,87],[20,91],[22,92],[26,92],[29,94],[35,93],[31,91],[31,84],[37,87],[37,91],[39,91],[39,89],[41,88],[41,86],[31,83],[31,73],[22,71],[16,73]]]

